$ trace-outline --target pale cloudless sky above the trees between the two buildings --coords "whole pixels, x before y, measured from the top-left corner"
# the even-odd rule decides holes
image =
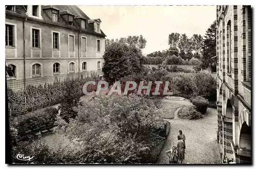
[[[168,49],[171,33],[205,35],[216,19],[216,6],[79,6],[91,19],[100,18],[107,39],[142,35],[143,54]]]

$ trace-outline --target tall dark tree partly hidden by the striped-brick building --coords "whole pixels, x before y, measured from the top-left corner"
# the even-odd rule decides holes
[[[207,29],[202,46],[202,68],[207,68],[209,65],[216,65],[216,60],[211,57],[216,56],[216,20]]]

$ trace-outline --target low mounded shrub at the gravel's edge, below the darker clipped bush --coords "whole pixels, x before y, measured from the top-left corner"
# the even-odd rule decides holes
[[[185,106],[181,108],[178,112],[180,118],[185,119],[199,119],[202,118],[203,115],[196,110],[196,107],[193,105]]]

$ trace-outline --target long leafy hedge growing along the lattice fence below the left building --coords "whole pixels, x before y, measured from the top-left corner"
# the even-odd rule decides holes
[[[54,82],[53,84],[45,84],[39,86],[28,86],[25,91],[13,92],[12,89],[8,88],[8,109],[11,116],[17,116],[26,114],[27,112],[36,111],[37,109],[47,108],[59,103],[63,102],[62,95],[63,91],[61,91],[61,85],[65,85],[71,79],[66,79],[62,82]],[[74,78],[73,80],[78,81],[81,86],[81,94],[82,87],[84,83],[88,81],[95,81],[97,83],[100,81],[99,76],[86,77],[86,78]],[[96,88],[93,86],[88,86],[89,90],[95,90]],[[39,95],[39,96],[38,96]],[[26,100],[26,103],[25,103]]]

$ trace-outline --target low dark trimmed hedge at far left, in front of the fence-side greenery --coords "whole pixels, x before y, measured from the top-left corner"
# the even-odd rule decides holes
[[[24,115],[14,117],[10,126],[17,130],[18,140],[27,139],[28,134],[48,130],[54,127],[58,109],[49,107],[28,112]]]

